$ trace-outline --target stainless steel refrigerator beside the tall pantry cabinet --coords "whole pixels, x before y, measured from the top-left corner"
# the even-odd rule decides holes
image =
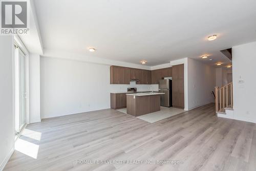
[[[159,80],[159,93],[161,94],[160,105],[171,107],[173,106],[172,102],[172,80],[170,79],[161,79]]]

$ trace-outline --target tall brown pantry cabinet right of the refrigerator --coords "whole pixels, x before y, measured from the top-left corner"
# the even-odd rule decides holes
[[[173,106],[184,109],[184,64],[173,66],[172,78]]]

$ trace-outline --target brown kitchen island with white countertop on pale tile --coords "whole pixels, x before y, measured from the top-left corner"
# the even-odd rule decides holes
[[[160,111],[160,95],[164,93],[126,94],[127,114],[141,116]]]

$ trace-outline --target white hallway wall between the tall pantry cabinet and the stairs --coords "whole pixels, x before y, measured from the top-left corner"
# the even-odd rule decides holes
[[[214,102],[215,68],[188,58],[188,110]]]

